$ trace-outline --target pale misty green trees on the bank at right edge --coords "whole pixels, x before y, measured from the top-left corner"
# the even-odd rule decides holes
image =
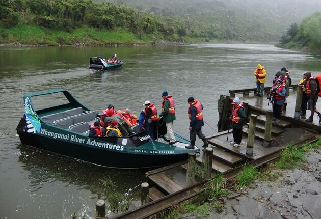
[[[298,26],[292,23],[277,46],[287,49],[321,50],[321,12],[305,17]]]

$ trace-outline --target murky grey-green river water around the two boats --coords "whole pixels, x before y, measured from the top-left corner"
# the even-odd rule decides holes
[[[113,53],[125,62],[121,69],[88,69],[89,57]],[[321,73],[318,54],[272,45],[0,47],[0,218],[70,218],[72,212],[93,217],[102,178],[111,177],[122,193],[135,192],[144,179],[145,171],[96,167],[22,146],[15,128],[23,116],[23,94],[64,88],[92,110],[112,103],[139,114],[145,100],[160,108],[161,93],[168,90],[176,101],[174,131],[188,137],[186,99],[200,99],[205,122],[217,129],[219,95],[255,87],[258,63],[268,81],[281,67],[291,71],[292,83],[304,71]],[[214,133],[208,125],[203,129]]]

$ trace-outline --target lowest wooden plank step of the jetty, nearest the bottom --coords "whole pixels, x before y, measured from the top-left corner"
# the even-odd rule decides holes
[[[164,173],[154,174],[149,176],[148,178],[151,179],[159,187],[167,191],[167,193],[169,194],[175,193],[176,191],[183,189],[183,187],[176,184],[172,179],[170,179]]]

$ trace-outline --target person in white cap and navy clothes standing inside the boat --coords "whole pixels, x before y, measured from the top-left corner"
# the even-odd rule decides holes
[[[144,102],[145,105],[145,119],[143,124],[145,125],[146,131],[149,134],[150,138],[154,138],[154,129],[157,127],[157,109],[154,103],[151,103],[149,100]]]

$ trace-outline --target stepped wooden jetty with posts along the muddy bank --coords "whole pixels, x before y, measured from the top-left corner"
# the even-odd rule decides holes
[[[216,174],[223,174],[225,177],[235,176],[242,170],[245,163],[260,166],[278,158],[279,152],[288,145],[301,147],[318,140],[321,132],[318,121],[309,124],[303,118],[293,118],[297,86],[292,86],[292,88],[287,98],[287,110],[283,112],[280,123],[272,122],[272,104],[268,105],[266,97],[251,95],[256,89],[230,91],[232,97],[239,96],[245,102],[248,120],[250,117],[255,119],[254,122],[250,121],[243,127],[240,147],[234,147],[229,143],[233,140],[232,130],[206,136],[209,147],[212,149],[210,150],[212,176]],[[265,88],[265,90],[269,89]],[[230,96],[225,96],[221,117],[229,116],[231,100]],[[221,118],[221,123],[227,122],[226,118]],[[220,125],[223,127],[226,124]],[[228,133],[230,134],[227,140]],[[250,145],[251,138],[253,138],[253,145]],[[266,142],[268,144],[265,144]],[[252,147],[252,154],[248,153],[250,147]],[[199,164],[206,163],[208,162],[206,161],[207,156],[201,152],[196,155],[195,161]],[[187,161],[147,172],[146,182],[150,186],[150,202],[114,218],[145,218],[202,193],[208,179],[198,181],[196,179],[191,185],[190,182],[186,183],[188,181],[186,177],[188,177]]]

